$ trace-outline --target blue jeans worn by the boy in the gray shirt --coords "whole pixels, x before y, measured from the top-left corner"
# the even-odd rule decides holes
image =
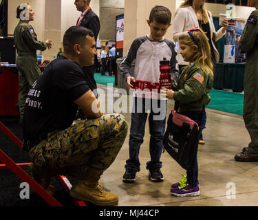
[[[166,101],[153,100],[145,98],[135,98],[133,102],[133,109],[135,113],[131,113],[131,128],[129,137],[129,159],[127,159],[125,168],[128,170],[140,171],[139,152],[140,146],[143,143],[145,124],[148,117],[147,111],[149,110],[149,133],[151,135],[149,140],[149,153],[151,160],[147,162],[146,168],[162,167],[160,156],[163,149],[163,137],[166,126]],[[157,112],[155,108],[162,108],[163,113]],[[154,107],[154,108],[153,108]],[[139,111],[140,110],[140,111]],[[155,120],[155,115],[164,115],[161,120]],[[153,119],[154,117],[154,119]]]

